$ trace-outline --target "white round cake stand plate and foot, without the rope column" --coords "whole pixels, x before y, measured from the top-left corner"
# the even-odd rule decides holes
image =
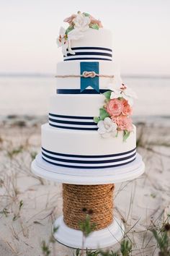
[[[102,169],[77,169],[53,166],[42,160],[38,154],[32,162],[32,172],[43,179],[66,184],[97,185],[125,182],[136,179],[143,174],[145,164],[137,153],[135,161],[125,166]],[[82,231],[71,229],[63,222],[63,216],[59,217],[54,226],[59,226],[54,237],[58,242],[72,248],[82,249]],[[114,217],[114,221],[105,229],[92,232],[84,242],[84,248],[97,249],[112,246],[122,239],[125,227],[122,221]]]

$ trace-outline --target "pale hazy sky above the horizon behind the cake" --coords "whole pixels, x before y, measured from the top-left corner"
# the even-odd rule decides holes
[[[0,72],[55,73],[64,18],[89,12],[112,31],[122,74],[170,75],[170,0],[0,0]]]

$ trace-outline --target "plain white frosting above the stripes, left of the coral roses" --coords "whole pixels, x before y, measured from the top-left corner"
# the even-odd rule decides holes
[[[50,98],[50,113],[66,116],[99,116],[104,104],[102,94],[58,94]]]

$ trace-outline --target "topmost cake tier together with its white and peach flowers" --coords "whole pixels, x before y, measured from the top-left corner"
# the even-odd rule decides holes
[[[61,27],[57,38],[64,61],[112,61],[112,33],[103,28],[100,20],[86,12],[78,12],[64,22],[68,27]]]

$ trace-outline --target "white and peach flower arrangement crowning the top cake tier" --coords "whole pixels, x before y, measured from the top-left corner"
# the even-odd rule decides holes
[[[71,50],[71,40],[82,38],[84,36],[82,32],[89,30],[89,27],[96,30],[102,27],[100,20],[96,20],[86,12],[72,14],[71,17],[67,17],[64,22],[68,22],[69,27],[66,30],[61,27],[59,37],[57,38],[58,47],[62,46],[64,56],[66,56],[67,53],[75,54],[75,52]]]

